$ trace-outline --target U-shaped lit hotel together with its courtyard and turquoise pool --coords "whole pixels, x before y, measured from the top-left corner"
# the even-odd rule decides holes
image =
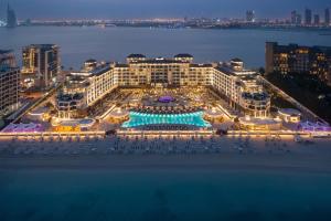
[[[98,103],[105,102],[109,105],[103,112],[104,104]],[[265,126],[278,123],[268,119],[270,96],[243,61],[194,64],[190,54],[173,59],[131,54],[126,64],[88,60],[82,71],[67,76],[55,108],[54,123],[108,118],[124,123],[121,128],[207,129],[210,123],[245,116],[264,118]]]

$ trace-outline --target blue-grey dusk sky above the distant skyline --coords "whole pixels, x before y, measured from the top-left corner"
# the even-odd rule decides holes
[[[0,0],[3,12],[6,2]],[[248,9],[257,17],[284,18],[291,10],[322,13],[329,0],[9,0],[20,19],[236,17]],[[3,18],[3,14],[1,14]]]

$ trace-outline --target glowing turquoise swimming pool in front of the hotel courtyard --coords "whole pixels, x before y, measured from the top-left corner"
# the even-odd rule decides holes
[[[122,124],[125,128],[134,128],[146,125],[191,125],[196,127],[210,127],[211,124],[203,119],[203,112],[188,114],[145,114],[130,112],[130,119]]]

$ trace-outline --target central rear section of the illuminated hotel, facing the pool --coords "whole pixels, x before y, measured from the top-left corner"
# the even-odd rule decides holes
[[[190,54],[173,59],[147,59],[131,54],[127,64],[114,64],[118,86],[205,86],[212,84],[212,64],[193,64]]]

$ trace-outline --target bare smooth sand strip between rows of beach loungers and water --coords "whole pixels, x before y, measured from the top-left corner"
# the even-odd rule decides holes
[[[220,171],[331,175],[329,156],[266,155],[148,155],[0,157],[0,171],[8,170],[107,170],[107,171]]]

